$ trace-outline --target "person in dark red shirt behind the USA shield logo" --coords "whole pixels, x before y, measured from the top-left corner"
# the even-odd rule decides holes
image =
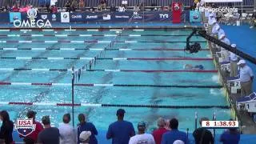
[[[33,119],[33,124],[35,124],[35,130],[23,139],[24,142],[37,142],[38,134],[43,130],[42,124],[35,121],[36,114],[37,112],[33,110],[28,111],[26,114],[27,118]],[[22,135],[20,135],[20,137],[22,137]]]

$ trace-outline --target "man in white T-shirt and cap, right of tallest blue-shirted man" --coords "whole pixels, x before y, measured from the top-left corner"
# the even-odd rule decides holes
[[[146,123],[138,122],[138,134],[130,138],[129,144],[155,144],[151,134],[145,134]]]

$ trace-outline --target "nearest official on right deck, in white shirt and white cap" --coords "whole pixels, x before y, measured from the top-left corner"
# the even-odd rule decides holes
[[[240,60],[238,62],[238,66],[240,67],[240,84],[241,84],[241,96],[248,96],[250,95],[253,90],[252,90],[252,85],[253,85],[253,80],[254,80],[254,74],[253,70],[249,66],[246,65],[245,60]]]

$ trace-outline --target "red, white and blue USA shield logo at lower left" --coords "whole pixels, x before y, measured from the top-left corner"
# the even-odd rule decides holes
[[[35,130],[35,124],[33,124],[33,119],[17,119],[14,129],[18,131],[18,134],[26,137]]]

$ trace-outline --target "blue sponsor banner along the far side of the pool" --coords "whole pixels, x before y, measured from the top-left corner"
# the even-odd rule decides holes
[[[82,12],[82,13],[67,13],[70,17],[70,22],[171,22],[172,13],[170,11],[146,11],[134,13],[127,12]],[[184,18],[183,13],[182,18]],[[187,14],[186,14],[187,15]],[[15,19],[28,20],[26,13],[0,13],[0,22],[14,22]],[[35,20],[42,19],[50,22],[62,22],[61,14],[38,13]]]

